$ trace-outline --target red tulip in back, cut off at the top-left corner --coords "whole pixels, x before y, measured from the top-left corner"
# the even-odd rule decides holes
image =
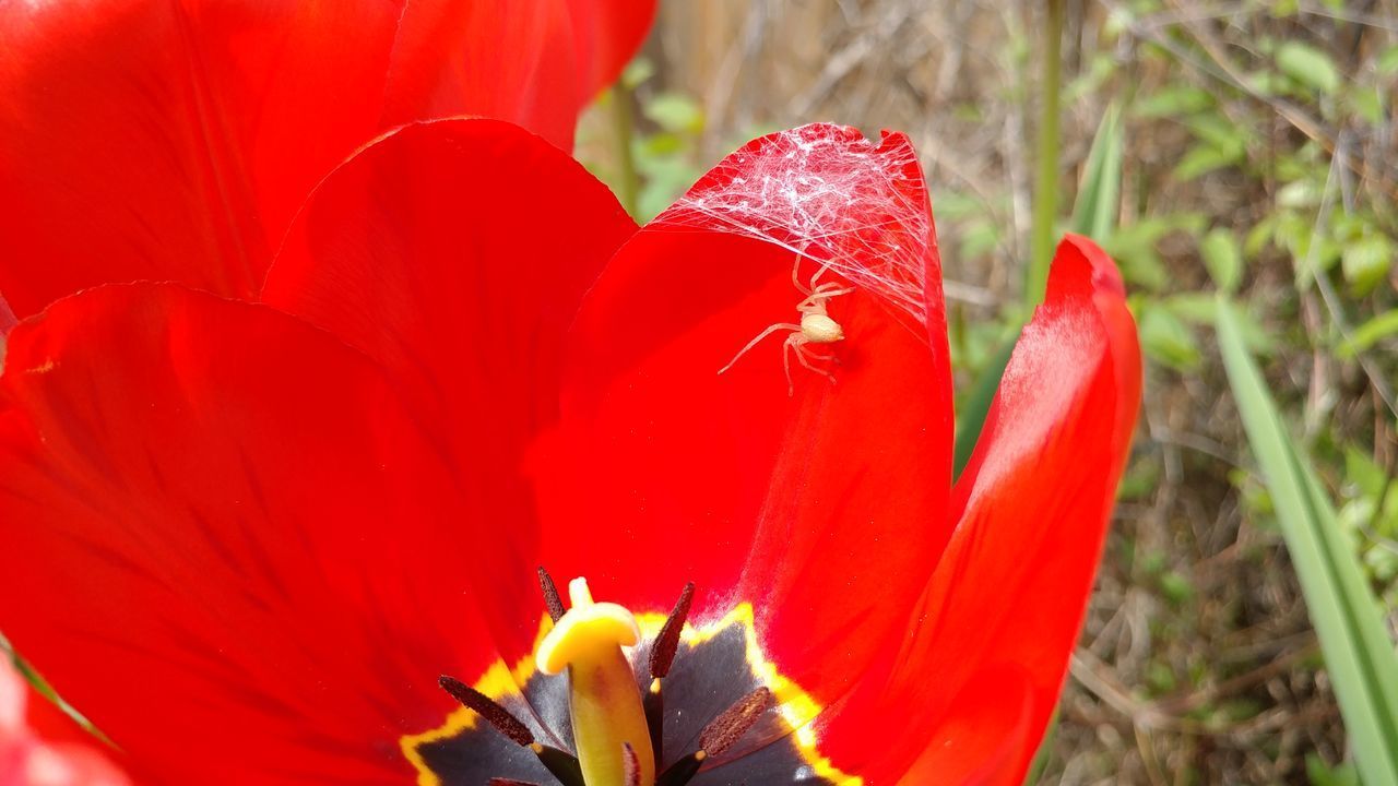
[[[492,113],[570,147],[601,55],[537,4],[4,4],[0,236],[28,262],[0,291],[21,316],[140,278],[253,295],[306,193],[393,124]],[[640,7],[590,28],[607,52]]]

